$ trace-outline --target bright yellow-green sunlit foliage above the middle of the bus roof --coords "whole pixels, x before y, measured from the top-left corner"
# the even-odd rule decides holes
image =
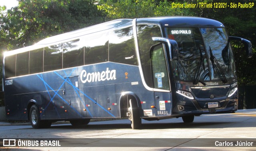
[[[172,8],[171,4],[168,0],[99,0],[98,9],[106,12],[108,20],[184,14],[181,8]]]

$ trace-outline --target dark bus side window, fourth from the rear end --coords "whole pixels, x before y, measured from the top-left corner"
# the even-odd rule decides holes
[[[44,48],[44,72],[62,69],[62,44]]]

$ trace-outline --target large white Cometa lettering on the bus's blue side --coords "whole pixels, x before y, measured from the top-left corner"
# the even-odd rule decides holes
[[[105,81],[105,80],[114,80],[116,79],[116,70],[108,70],[100,72],[93,72],[93,73],[88,73],[86,70],[82,70],[80,79],[82,83],[86,82],[97,82],[97,81]]]

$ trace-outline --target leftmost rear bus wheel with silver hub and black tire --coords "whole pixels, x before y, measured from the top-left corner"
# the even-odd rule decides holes
[[[30,107],[29,118],[34,129],[49,128],[52,125],[51,121],[42,121],[40,119],[40,113],[36,105]]]

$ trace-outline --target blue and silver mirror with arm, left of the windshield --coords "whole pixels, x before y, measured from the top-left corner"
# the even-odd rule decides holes
[[[168,45],[171,60],[178,59],[178,44],[175,40],[170,40],[163,37],[152,37],[153,41],[163,42]]]

